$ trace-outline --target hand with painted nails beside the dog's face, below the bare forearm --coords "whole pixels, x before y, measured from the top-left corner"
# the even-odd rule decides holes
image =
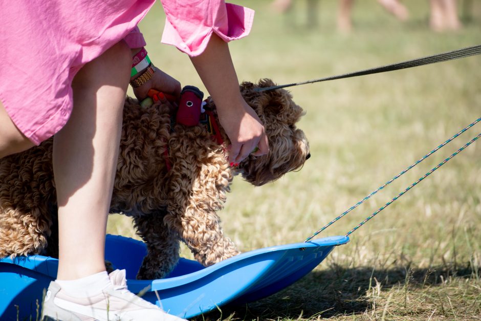
[[[262,156],[269,153],[264,125],[242,96],[227,108],[217,105],[217,114],[231,141],[229,148],[231,164],[240,163],[249,154]]]

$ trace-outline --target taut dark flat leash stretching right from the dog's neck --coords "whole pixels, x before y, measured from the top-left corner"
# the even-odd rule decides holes
[[[417,58],[417,59],[407,60],[407,61],[403,61],[403,62],[392,63],[391,65],[386,65],[386,66],[376,67],[376,68],[370,68],[370,69],[366,69],[366,70],[351,72],[351,73],[337,75],[337,76],[331,76],[331,77],[325,77],[325,78],[319,78],[319,79],[313,79],[313,80],[301,81],[301,82],[293,82],[293,83],[288,83],[288,84],[281,84],[281,85],[276,85],[276,86],[272,86],[272,87],[257,88],[256,91],[257,92],[263,92],[263,91],[268,91],[268,90],[276,90],[276,89],[279,89],[279,88],[293,87],[293,86],[297,86],[297,85],[301,85],[301,84],[307,84],[307,83],[314,83],[314,82],[321,82],[321,81],[327,81],[327,80],[334,80],[334,79],[342,79],[342,78],[350,78],[350,77],[356,77],[356,76],[377,74],[377,73],[382,73],[382,72],[386,72],[386,71],[406,69],[406,68],[411,68],[411,67],[429,65],[430,63],[436,63],[436,62],[443,62],[443,61],[448,61],[448,60],[453,60],[453,59],[465,58],[465,57],[479,55],[479,54],[481,54],[481,45],[477,45],[477,46],[473,46],[473,47],[467,47],[467,48],[453,50],[453,51],[448,51],[448,52],[445,52],[445,53],[435,54],[435,55],[427,56],[427,57],[423,57],[423,58]]]

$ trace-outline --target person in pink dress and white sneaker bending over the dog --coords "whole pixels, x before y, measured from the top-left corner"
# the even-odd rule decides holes
[[[104,265],[128,83],[139,99],[152,88],[181,91],[178,80],[138,56],[145,42],[137,24],[154,1],[0,3],[8,12],[0,20],[0,157],[54,136],[59,264],[42,319],[180,319],[129,292],[125,271],[108,275]],[[227,45],[250,32],[253,11],[223,0],[162,4],[162,41],[190,56],[215,100],[231,140],[230,162],[255,149],[253,155],[268,153],[264,126],[239,92]]]

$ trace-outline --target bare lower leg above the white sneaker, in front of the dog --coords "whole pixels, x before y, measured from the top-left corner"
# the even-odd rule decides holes
[[[119,42],[85,65],[72,84],[72,115],[54,137],[59,280],[105,270],[107,213],[131,64],[130,50]]]

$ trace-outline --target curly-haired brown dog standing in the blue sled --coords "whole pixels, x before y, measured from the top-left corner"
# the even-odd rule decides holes
[[[309,145],[296,122],[304,114],[286,90],[256,92],[274,83],[244,82],[246,102],[265,124],[268,155],[249,156],[231,167],[225,147],[203,125],[173,125],[167,104],[142,107],[127,98],[111,212],[134,218],[148,254],[139,279],[159,279],[179,259],[179,241],[208,266],[239,253],[224,236],[217,211],[236,174],[254,185],[274,181],[309,158]],[[215,115],[212,99],[206,110]],[[168,152],[166,152],[168,151]],[[170,167],[168,169],[167,167]],[[58,253],[52,139],[0,160],[0,257]],[[47,245],[49,245],[47,247]]]

